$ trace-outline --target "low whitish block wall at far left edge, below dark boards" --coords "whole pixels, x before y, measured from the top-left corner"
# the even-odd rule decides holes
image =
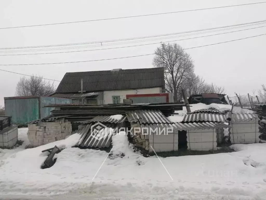
[[[1,131],[0,134],[0,147],[13,147],[18,141],[18,127],[13,125],[11,129],[7,129],[6,132]]]

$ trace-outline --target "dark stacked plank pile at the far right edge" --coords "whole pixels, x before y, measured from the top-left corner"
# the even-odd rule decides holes
[[[261,133],[259,138],[266,140],[266,103],[257,103],[255,104],[256,112],[260,118],[259,123],[259,132]]]

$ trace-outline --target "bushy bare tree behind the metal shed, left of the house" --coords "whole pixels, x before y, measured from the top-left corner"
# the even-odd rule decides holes
[[[17,83],[15,95],[16,96],[31,96],[41,95],[49,96],[55,92],[56,86],[54,82],[49,82],[43,79],[42,76],[32,76],[30,78],[21,77]]]

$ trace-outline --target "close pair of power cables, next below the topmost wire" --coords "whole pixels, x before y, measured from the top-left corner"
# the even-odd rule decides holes
[[[118,41],[136,40],[136,39],[163,37],[163,36],[168,36],[168,35],[179,35],[179,34],[183,34],[183,33],[193,33],[193,32],[200,32],[200,31],[206,31],[206,30],[223,29],[223,28],[228,28],[228,27],[233,27],[231,29],[234,29],[234,28],[246,27],[246,26],[243,26],[243,25],[254,26],[254,25],[259,25],[261,23],[265,23],[265,22],[266,22],[266,20],[262,20],[262,21],[247,22],[247,23],[242,23],[242,24],[234,24],[234,25],[227,25],[227,26],[220,26],[220,27],[212,27],[212,28],[207,28],[207,29],[198,29],[198,30],[192,30],[192,31],[183,31],[183,32],[178,32],[178,33],[168,33],[168,34],[161,34],[161,35],[149,35],[149,36],[142,36],[142,37],[123,38],[123,39],[114,39],[114,40],[105,40],[105,41],[82,42],[82,43],[68,43],[68,44],[57,44],[57,45],[43,45],[43,46],[4,47],[4,48],[0,48],[0,49],[2,49],[2,50],[4,50],[4,49],[28,49],[28,48],[41,48],[41,47],[85,45],[85,44],[94,44],[94,43],[101,43],[100,46],[102,46],[102,43],[107,43],[107,42],[118,42]],[[235,26],[239,26],[239,27],[235,27]],[[217,31],[220,31],[220,30],[217,30]],[[142,42],[142,41],[140,41],[140,42]],[[113,45],[113,44],[111,44],[111,45]],[[108,45],[104,45],[104,46],[108,46]],[[81,46],[81,47],[83,48],[83,47],[86,47],[86,46]],[[58,48],[58,50],[61,50],[62,48],[63,47],[60,47],[60,48]],[[74,49],[74,48],[77,48],[77,47],[66,47],[66,49],[67,48],[73,48]],[[39,50],[57,50],[57,49],[56,48],[54,48],[54,49],[37,49],[36,51],[39,51]],[[19,52],[19,51],[34,51],[34,50],[13,50],[13,51],[0,51],[0,52],[15,52],[15,51],[18,51]]]

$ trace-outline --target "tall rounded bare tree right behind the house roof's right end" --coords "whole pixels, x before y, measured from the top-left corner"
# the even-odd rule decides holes
[[[174,102],[177,102],[179,87],[191,78],[194,72],[194,64],[190,55],[176,43],[163,44],[155,50],[152,64],[154,67],[165,68],[165,90],[173,92]]]

